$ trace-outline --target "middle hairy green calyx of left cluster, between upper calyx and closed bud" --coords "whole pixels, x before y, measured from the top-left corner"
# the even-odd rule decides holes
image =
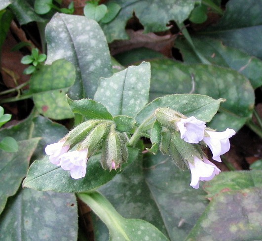
[[[103,121],[93,128],[86,138],[79,144],[77,150],[88,149],[88,157],[92,156],[96,151],[98,151],[108,132],[109,125],[112,121]]]

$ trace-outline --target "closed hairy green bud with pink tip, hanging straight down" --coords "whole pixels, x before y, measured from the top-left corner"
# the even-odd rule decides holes
[[[109,170],[117,169],[121,163],[127,161],[127,158],[126,137],[112,125],[102,149],[102,167]]]

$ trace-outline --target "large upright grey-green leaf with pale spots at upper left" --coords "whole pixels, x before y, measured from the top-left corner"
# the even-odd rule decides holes
[[[112,75],[107,41],[94,20],[57,13],[46,26],[46,42],[46,63],[64,58],[75,65],[76,80],[69,90],[71,99],[93,98],[99,78]]]

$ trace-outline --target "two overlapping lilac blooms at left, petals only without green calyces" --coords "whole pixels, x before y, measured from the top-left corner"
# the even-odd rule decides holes
[[[88,149],[68,152],[70,146],[64,144],[65,141],[60,141],[46,146],[45,153],[49,156],[49,160],[64,170],[70,170],[70,175],[74,179],[84,177]]]

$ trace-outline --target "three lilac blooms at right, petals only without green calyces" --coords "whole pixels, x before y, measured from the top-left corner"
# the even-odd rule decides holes
[[[195,117],[181,119],[176,122],[181,138],[188,143],[196,144],[200,141],[206,143],[213,154],[213,160],[221,162],[220,156],[230,149],[229,138],[235,134],[233,129],[227,128],[223,132],[217,132],[206,128],[204,121]],[[191,183],[193,188],[199,187],[199,181],[209,181],[219,174],[220,169],[211,161],[203,157],[203,161],[194,157],[193,163],[188,162],[191,171]]]

